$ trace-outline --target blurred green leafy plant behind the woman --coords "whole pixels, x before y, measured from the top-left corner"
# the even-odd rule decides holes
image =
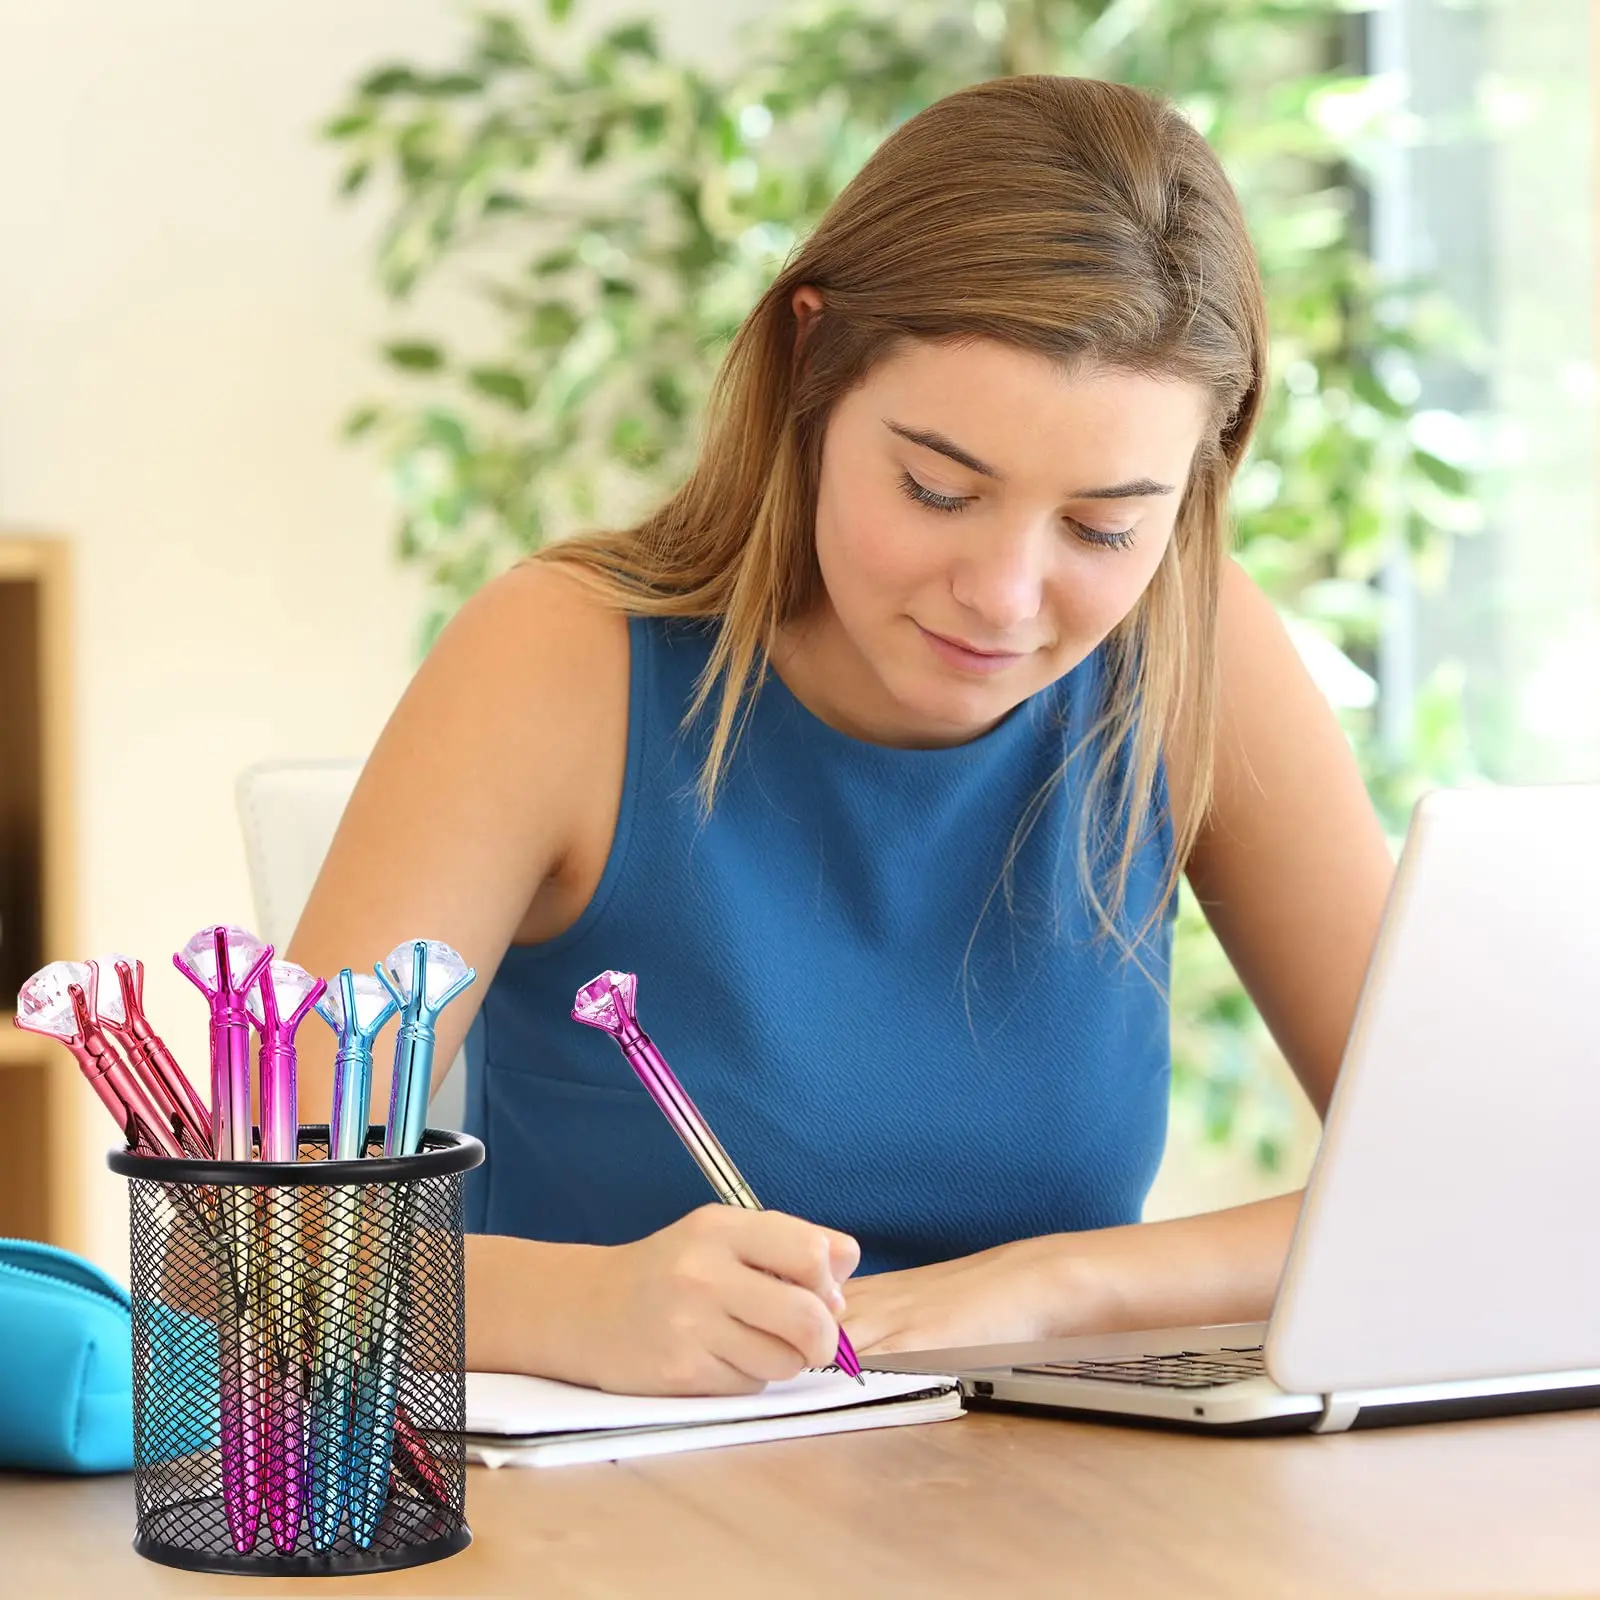
[[[1459,680],[1378,688],[1386,563],[1442,579],[1477,528],[1474,429],[1422,410],[1469,331],[1386,282],[1370,179],[1400,107],[1362,75],[1339,0],[850,0],[779,8],[722,66],[571,0],[470,16],[459,59],[373,70],[326,125],[342,189],[376,189],[397,398],[360,406],[398,549],[427,574],[422,645],[474,589],[581,525],[622,525],[685,474],[717,360],[786,253],[878,141],[955,88],[1059,72],[1154,88],[1222,158],[1261,254],[1274,387],[1237,486],[1237,554],[1339,710],[1394,834],[1467,773]],[[480,309],[429,333],[424,286]],[[405,331],[398,331],[403,328]],[[1315,842],[1307,842],[1315,848]],[[1282,1062],[1187,890],[1174,1112],[1262,1168],[1291,1122]]]

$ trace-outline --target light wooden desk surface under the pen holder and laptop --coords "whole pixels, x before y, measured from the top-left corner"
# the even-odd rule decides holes
[[[1326,1438],[1035,1418],[616,1466],[474,1469],[461,1555],[376,1579],[136,1557],[133,1486],[0,1475],[0,1589],[146,1595],[1600,1594],[1600,1413]]]

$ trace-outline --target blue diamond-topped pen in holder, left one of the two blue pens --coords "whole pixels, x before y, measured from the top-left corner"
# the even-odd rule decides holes
[[[376,978],[352,973],[349,966],[317,1002],[317,1014],[338,1040],[328,1125],[330,1160],[354,1162],[366,1154],[373,1043],[397,1010]],[[357,1344],[352,1278],[360,1250],[360,1194],[355,1184],[334,1184],[328,1194],[322,1242],[307,1445],[310,1539],[318,1550],[330,1549],[339,1538],[350,1488],[350,1400]]]

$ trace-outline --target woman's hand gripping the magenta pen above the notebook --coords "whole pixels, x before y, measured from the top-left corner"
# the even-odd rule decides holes
[[[571,1253],[563,1376],[616,1394],[750,1394],[827,1366],[861,1248],[782,1211],[706,1205],[630,1245]]]

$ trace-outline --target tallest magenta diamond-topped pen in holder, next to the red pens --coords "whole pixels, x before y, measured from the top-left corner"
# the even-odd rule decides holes
[[[211,1141],[218,1160],[248,1162],[250,1016],[245,995],[272,960],[272,946],[243,928],[202,928],[173,965],[211,1005]],[[261,1302],[256,1259],[256,1190],[218,1186],[218,1210],[232,1256],[234,1315],[219,1326],[222,1509],[234,1549],[248,1555],[261,1523]]]

